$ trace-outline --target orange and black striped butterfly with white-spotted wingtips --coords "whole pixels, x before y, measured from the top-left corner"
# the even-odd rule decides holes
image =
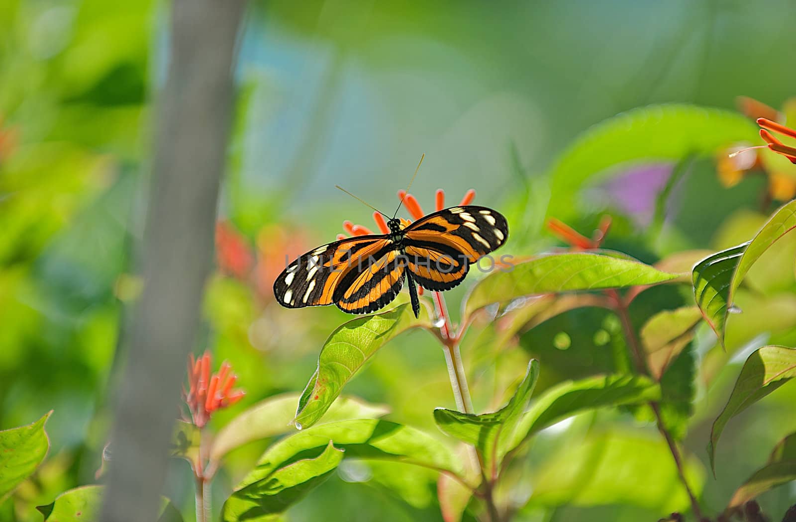
[[[354,236],[300,255],[274,282],[277,302],[287,308],[334,303],[349,314],[368,314],[392,302],[406,279],[419,317],[416,283],[450,290],[509,237],[504,216],[475,205],[444,208],[405,227],[385,217],[387,234]]]

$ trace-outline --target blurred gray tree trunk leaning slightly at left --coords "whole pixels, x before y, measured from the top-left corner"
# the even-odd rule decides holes
[[[232,115],[245,0],[174,0],[142,245],[144,287],[116,397],[101,520],[152,522],[202,294]]]

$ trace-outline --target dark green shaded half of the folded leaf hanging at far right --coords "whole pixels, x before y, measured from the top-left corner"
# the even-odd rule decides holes
[[[728,289],[749,243],[739,244],[702,259],[693,269],[694,298],[704,320],[724,345],[724,322],[727,319]]]

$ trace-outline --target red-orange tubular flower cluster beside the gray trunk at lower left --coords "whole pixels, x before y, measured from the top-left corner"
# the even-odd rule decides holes
[[[232,366],[224,361],[217,373],[210,375],[210,354],[194,360],[193,353],[188,361],[188,391],[183,391],[185,403],[191,412],[191,419],[197,427],[204,427],[213,411],[232,406],[244,398],[243,390],[232,390],[238,377],[232,373]]]

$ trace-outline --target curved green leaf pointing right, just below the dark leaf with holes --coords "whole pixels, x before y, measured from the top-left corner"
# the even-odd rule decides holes
[[[581,411],[646,403],[660,397],[658,385],[644,376],[593,376],[561,383],[533,401],[522,416],[510,447],[519,446],[544,428]]]

